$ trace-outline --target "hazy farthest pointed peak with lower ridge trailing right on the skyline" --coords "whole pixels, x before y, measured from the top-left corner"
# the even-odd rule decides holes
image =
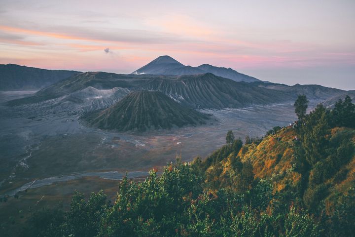
[[[212,73],[215,76],[232,79],[235,81],[260,81],[248,75],[238,73],[231,68],[219,68],[209,64],[202,64],[198,67],[185,66],[174,58],[164,55],[160,56],[132,74],[152,74],[152,75],[195,75]]]

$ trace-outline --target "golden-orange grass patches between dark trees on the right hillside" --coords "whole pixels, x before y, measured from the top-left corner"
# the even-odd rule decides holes
[[[355,129],[335,127],[331,130],[331,136],[341,136],[342,131],[345,130],[352,134],[352,141],[355,145]],[[255,179],[271,179],[274,184],[274,192],[282,192],[288,188],[297,189],[302,185],[303,180],[307,180],[307,174],[302,174],[302,172],[298,171],[299,162],[297,161],[295,150],[299,141],[295,137],[296,132],[294,129],[284,127],[276,134],[264,137],[258,145],[254,143],[244,145],[238,156],[243,162],[251,162]],[[223,167],[220,179],[223,179],[225,174],[231,173],[230,156],[232,155],[224,155],[226,158],[220,161]],[[212,167],[210,166],[209,168]],[[354,183],[355,155],[338,172],[324,181],[324,184],[329,187],[329,192],[324,197],[325,204],[332,206],[339,194],[346,194]]]

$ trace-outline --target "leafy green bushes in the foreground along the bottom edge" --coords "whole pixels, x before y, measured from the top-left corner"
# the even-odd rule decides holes
[[[284,212],[267,213],[274,195],[266,181],[245,194],[202,185],[196,166],[170,164],[158,177],[155,170],[144,182],[124,179],[116,201],[109,205],[102,192],[86,201],[75,193],[70,210],[36,212],[24,236],[320,236],[320,223],[291,205]],[[265,191],[267,195],[265,195]]]

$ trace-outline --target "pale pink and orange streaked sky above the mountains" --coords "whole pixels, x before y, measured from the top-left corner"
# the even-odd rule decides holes
[[[355,90],[355,0],[0,0],[0,64],[127,74],[160,55]]]

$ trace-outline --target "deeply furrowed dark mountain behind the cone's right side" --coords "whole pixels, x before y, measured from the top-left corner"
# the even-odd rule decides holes
[[[252,86],[247,82],[236,82],[211,73],[174,79],[152,79],[139,89],[158,90],[181,103],[210,109],[280,103],[294,98],[284,92]]]

